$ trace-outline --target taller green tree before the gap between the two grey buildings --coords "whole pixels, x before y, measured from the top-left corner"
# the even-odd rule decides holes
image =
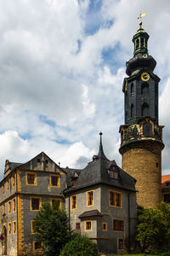
[[[34,218],[34,233],[36,241],[42,242],[46,255],[59,255],[71,237],[66,213],[59,210],[58,204],[53,207],[48,202],[43,204]]]

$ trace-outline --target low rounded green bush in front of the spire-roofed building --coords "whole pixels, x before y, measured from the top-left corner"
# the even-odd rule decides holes
[[[75,234],[72,239],[68,241],[59,256],[98,256],[97,245],[89,240],[87,236]]]

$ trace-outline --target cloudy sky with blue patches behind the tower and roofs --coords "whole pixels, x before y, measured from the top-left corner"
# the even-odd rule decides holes
[[[170,1],[0,0],[0,175],[44,151],[83,167],[98,152],[121,166],[122,80],[140,11],[160,82],[162,172],[170,173]]]

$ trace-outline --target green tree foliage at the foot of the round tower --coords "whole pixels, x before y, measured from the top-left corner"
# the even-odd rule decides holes
[[[139,210],[137,240],[152,251],[170,250],[170,206],[161,202],[157,208]]]

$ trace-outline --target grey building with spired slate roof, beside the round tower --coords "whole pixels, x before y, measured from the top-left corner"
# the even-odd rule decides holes
[[[69,170],[67,170],[69,172]],[[75,171],[76,172],[76,171]],[[79,177],[65,191],[71,229],[88,236],[103,253],[124,253],[133,244],[137,204],[135,180],[105,157],[100,141]]]

